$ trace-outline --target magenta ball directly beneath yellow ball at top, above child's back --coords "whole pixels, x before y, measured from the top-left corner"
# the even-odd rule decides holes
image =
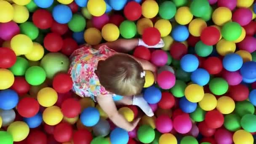
[[[93,16],[92,17],[93,27],[96,29],[102,29],[102,27],[109,22],[109,16],[104,13],[102,16]]]

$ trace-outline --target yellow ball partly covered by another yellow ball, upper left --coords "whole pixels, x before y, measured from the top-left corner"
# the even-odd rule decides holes
[[[33,42],[33,48],[32,51],[25,54],[25,57],[30,61],[39,61],[43,58],[45,51],[43,49],[43,46],[40,45],[40,43]]]

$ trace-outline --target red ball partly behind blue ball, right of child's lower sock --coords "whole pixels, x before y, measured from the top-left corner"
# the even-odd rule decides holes
[[[174,96],[169,92],[163,92],[158,106],[162,109],[171,109],[175,104]]]

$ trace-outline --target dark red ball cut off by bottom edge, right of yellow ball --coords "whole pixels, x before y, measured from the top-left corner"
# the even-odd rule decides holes
[[[27,144],[47,144],[47,136],[42,131],[31,131],[27,136]]]

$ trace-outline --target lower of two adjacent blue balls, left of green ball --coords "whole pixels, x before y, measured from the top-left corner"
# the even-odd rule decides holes
[[[210,80],[210,74],[205,69],[197,69],[191,74],[191,80],[193,83],[196,83],[197,85],[204,86],[206,85]]]

